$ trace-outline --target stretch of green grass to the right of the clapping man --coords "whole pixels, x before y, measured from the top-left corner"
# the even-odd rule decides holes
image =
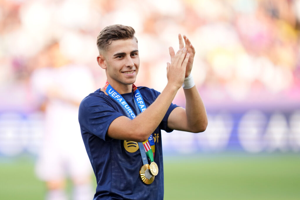
[[[300,157],[295,154],[166,160],[164,174],[164,199],[300,199]]]

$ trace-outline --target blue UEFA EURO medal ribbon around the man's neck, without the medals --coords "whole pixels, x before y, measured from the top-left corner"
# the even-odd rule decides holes
[[[134,114],[134,112],[132,111],[130,106],[127,104],[125,99],[119,94],[119,92],[117,92],[115,89],[113,89],[112,86],[110,86],[108,81],[106,81],[106,83],[105,83],[104,90],[111,98],[115,99],[120,105],[122,105],[122,108],[125,110],[125,112],[129,118],[134,119],[136,117],[136,115]],[[132,84],[132,91],[133,91],[133,95],[134,95],[135,106],[139,108],[139,109],[137,109],[137,112],[139,114],[139,111],[143,112],[146,110],[146,105],[145,105],[142,95],[140,94],[139,89],[137,89],[137,87],[134,84]],[[149,136],[148,140],[146,140],[143,143],[138,142],[138,144],[139,144],[140,151],[141,151],[141,149],[144,148],[146,155],[148,156],[150,161],[153,162],[154,161],[154,153],[155,153],[155,143],[154,143],[152,134]],[[141,151],[143,163],[145,162],[145,160],[143,158],[143,154],[145,154],[145,152],[142,153],[142,151]],[[148,163],[146,163],[146,164],[148,164]]]

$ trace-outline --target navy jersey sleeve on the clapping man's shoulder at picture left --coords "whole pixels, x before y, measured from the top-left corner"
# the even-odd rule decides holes
[[[113,120],[120,116],[124,115],[117,112],[113,105],[101,96],[88,96],[79,105],[80,129],[104,141],[112,140],[106,133]]]

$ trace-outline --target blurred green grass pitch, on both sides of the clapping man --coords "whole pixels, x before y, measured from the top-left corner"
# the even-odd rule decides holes
[[[164,199],[298,200],[297,154],[165,156]],[[44,198],[30,157],[0,159],[0,199]]]

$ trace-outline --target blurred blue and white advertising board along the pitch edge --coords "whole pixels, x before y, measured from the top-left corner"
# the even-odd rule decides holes
[[[0,114],[0,155],[37,155],[44,133],[43,113]],[[173,131],[154,133],[164,153],[241,151],[299,152],[300,109],[291,111],[208,111],[208,127],[202,133]]]

